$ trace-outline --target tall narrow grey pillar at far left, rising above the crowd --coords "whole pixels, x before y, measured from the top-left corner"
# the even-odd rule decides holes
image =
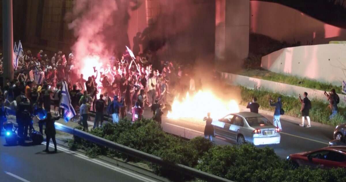
[[[12,0],[2,1],[3,80],[13,79]],[[4,83],[4,81],[2,82]]]

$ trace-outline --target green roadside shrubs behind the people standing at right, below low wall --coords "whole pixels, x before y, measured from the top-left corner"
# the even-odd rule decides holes
[[[243,86],[240,86],[240,94],[242,96],[242,105],[247,105],[248,102],[252,101],[252,97],[257,97],[257,102],[260,104],[260,109],[266,111],[274,111],[274,107],[270,107],[268,101],[273,99],[276,101],[277,97],[282,98],[283,109],[285,110],[285,115],[293,117],[301,117],[300,107],[301,103],[298,97],[291,97],[286,95],[281,95],[279,93],[270,92],[267,90],[259,89],[249,89]],[[340,98],[343,99],[343,98]],[[328,107],[327,101],[319,101],[311,99],[312,108],[310,110],[310,119],[311,121],[328,124],[336,126],[341,123],[345,123],[344,113],[346,112],[345,107],[338,107],[338,114],[333,118],[329,119],[331,111]]]

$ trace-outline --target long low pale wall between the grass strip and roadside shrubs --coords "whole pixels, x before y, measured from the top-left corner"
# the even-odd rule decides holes
[[[232,73],[222,72],[222,79],[226,81],[227,84],[230,85],[241,85],[248,88],[257,88],[267,89],[272,92],[281,93],[283,95],[295,96],[298,99],[298,94],[303,95],[304,92],[308,93],[308,97],[310,99],[320,99],[324,100],[326,103],[327,99],[324,95],[324,91],[316,90],[312,88],[299,87],[295,85],[283,84],[275,81],[263,80],[258,78],[252,78],[242,75],[235,75]],[[338,94],[340,97],[339,105],[346,106],[346,101],[344,99],[345,95]]]

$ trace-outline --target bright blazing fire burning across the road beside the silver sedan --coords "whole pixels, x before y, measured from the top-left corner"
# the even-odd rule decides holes
[[[222,118],[226,114],[239,112],[238,104],[235,100],[224,101],[210,91],[199,91],[179,101],[174,98],[172,112],[167,113],[167,118],[194,118],[202,120],[210,112],[211,118]]]

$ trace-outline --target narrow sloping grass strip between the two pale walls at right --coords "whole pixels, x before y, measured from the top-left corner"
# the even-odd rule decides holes
[[[281,73],[275,73],[275,72],[262,70],[262,69],[243,70],[242,72],[239,72],[238,74],[243,76],[253,77],[253,78],[280,82],[284,84],[296,85],[296,86],[313,88],[318,90],[326,90],[327,92],[335,88],[336,93],[342,93],[341,85],[336,86],[330,83],[322,83],[320,81],[316,81],[313,79],[300,78],[297,76],[289,76],[289,75],[284,75]]]

